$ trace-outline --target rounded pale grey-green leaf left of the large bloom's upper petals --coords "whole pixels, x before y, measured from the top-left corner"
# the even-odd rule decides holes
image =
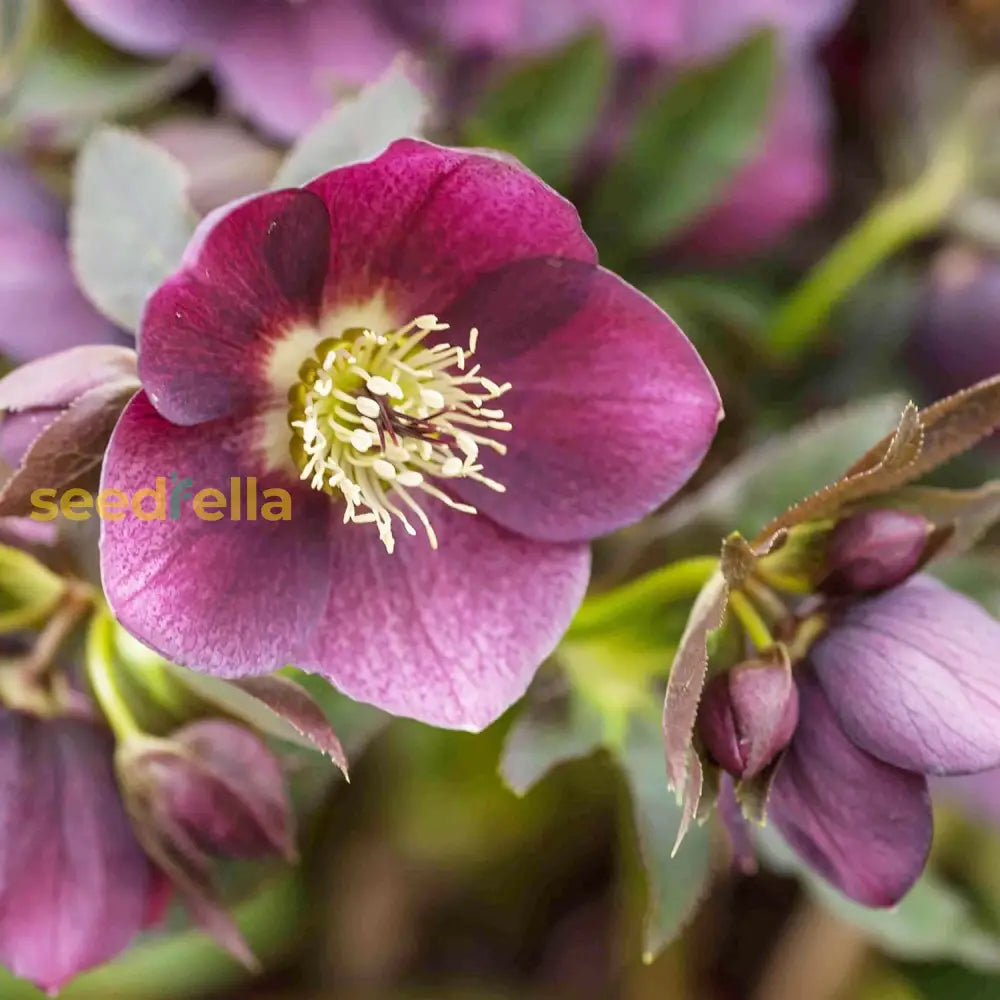
[[[99,129],[80,153],[73,267],[91,301],[127,329],[138,329],[147,297],[177,269],[194,232],[187,183],[180,163],[125,129]]]

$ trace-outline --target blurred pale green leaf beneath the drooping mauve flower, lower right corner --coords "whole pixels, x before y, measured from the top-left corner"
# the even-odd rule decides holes
[[[852,902],[799,860],[771,828],[758,832],[757,845],[771,865],[796,873],[831,913],[863,931],[896,958],[953,959],[983,970],[1000,969],[1000,939],[977,918],[955,889],[928,869],[891,910]]]

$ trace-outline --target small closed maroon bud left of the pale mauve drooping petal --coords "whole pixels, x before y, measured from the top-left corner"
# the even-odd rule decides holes
[[[720,767],[735,778],[752,778],[788,745],[798,719],[787,660],[750,660],[709,681],[698,731]]]

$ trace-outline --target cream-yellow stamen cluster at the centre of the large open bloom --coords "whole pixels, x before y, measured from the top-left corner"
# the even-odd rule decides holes
[[[468,348],[424,345],[428,334],[447,329],[436,316],[418,316],[385,334],[345,330],[319,344],[289,393],[292,458],[301,478],[314,489],[339,494],[344,523],[374,524],[389,552],[395,547],[394,520],[408,535],[416,534],[410,516],[437,548],[420,505],[424,497],[476,513],[438,482],[472,479],[504,491],[483,475],[477,460],[481,448],[506,453],[488,432],[509,431],[511,425],[503,410],[486,404],[510,383],[497,385],[478,364],[467,367],[476,350],[475,329]]]

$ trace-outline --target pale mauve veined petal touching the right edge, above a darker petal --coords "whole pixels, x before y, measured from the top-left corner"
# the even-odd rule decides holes
[[[1000,764],[1000,622],[917,576],[852,604],[811,659],[845,732],[897,767],[961,774]]]

